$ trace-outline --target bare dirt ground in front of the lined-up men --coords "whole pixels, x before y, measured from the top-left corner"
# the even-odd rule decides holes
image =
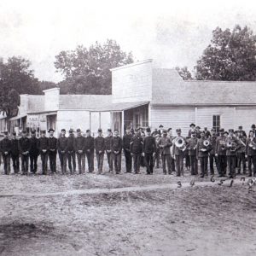
[[[249,193],[247,178],[230,186],[160,169],[46,177],[1,170],[0,181],[1,255],[256,255],[256,186]]]

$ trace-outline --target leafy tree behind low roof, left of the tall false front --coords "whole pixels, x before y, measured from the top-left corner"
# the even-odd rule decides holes
[[[71,51],[61,51],[55,56],[56,72],[65,76],[65,90],[75,94],[111,94],[111,72],[133,62],[131,53],[126,54],[114,40],[105,44],[83,45]],[[60,83],[60,88],[63,83]]]

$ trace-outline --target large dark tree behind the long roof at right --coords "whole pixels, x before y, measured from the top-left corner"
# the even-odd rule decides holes
[[[256,37],[247,26],[235,26],[231,32],[217,27],[211,44],[203,51],[195,66],[196,79],[250,80],[256,79]]]

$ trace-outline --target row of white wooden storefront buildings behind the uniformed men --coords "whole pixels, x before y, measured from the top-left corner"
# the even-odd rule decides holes
[[[175,69],[154,67],[153,60],[138,61],[112,70],[112,96],[60,95],[59,88],[44,96],[21,95],[18,116],[9,119],[9,130],[53,127],[165,128],[183,130],[189,125],[218,130],[256,123],[256,82],[184,81]]]

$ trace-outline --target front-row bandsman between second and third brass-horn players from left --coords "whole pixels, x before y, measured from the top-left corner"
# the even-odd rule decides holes
[[[218,157],[218,177],[225,177],[226,175],[226,137],[224,136],[224,129],[219,130],[219,137],[216,139],[215,155]]]

